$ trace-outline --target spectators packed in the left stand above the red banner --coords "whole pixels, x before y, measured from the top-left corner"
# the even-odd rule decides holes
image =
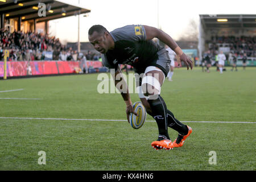
[[[79,54],[60,43],[55,36],[43,35],[28,31],[10,33],[0,28],[0,60],[3,60],[3,50],[9,50],[9,61],[45,60],[45,52],[52,52],[52,60],[77,61]],[[87,60],[98,60],[99,55],[90,51],[85,53]]]

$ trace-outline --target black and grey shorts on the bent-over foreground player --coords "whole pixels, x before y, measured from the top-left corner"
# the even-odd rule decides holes
[[[150,66],[161,69],[164,73],[164,76],[167,77],[171,67],[171,59],[168,55],[168,51],[164,48],[160,49],[160,51],[157,52],[155,59],[148,61],[148,63],[144,65],[134,66],[135,73],[140,75],[141,73],[144,73],[147,67]]]

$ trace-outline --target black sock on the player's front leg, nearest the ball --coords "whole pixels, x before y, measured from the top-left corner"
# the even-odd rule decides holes
[[[158,96],[155,100],[148,99],[148,103],[150,104],[152,110],[152,117],[155,119],[158,124],[159,136],[166,137],[170,139],[168,134],[167,127],[167,107],[162,97]]]

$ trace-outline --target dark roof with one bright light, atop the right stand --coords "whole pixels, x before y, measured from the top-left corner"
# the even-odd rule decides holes
[[[204,29],[215,28],[256,28],[255,14],[199,15]]]

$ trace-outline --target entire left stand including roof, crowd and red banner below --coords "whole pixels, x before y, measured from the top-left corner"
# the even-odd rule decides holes
[[[46,15],[39,16],[41,8]],[[100,59],[96,53],[78,52],[48,34],[49,20],[89,12],[55,0],[0,1],[0,78],[106,72],[101,61],[92,61]]]

